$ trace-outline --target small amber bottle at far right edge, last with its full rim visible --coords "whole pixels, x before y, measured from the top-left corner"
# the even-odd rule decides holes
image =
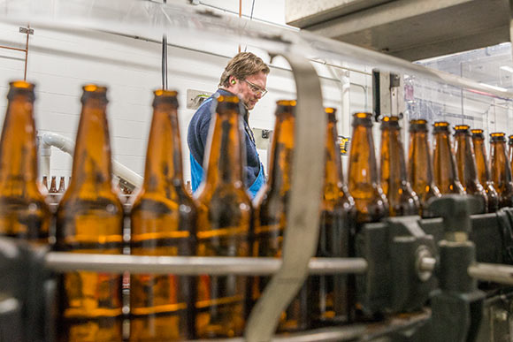
[[[491,133],[490,137],[490,173],[499,194],[499,208],[513,207],[513,183],[506,152],[506,134]]]

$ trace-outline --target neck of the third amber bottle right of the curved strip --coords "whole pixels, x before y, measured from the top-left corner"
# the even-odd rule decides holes
[[[406,164],[399,129],[383,128],[381,133],[380,183],[385,194],[406,182]]]

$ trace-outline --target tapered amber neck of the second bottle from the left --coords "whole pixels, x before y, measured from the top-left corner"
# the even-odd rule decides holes
[[[111,189],[111,143],[106,106],[106,101],[93,96],[83,102],[70,187],[94,185]]]

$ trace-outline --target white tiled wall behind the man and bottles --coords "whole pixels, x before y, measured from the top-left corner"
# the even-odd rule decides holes
[[[0,45],[24,48],[25,39],[26,35],[19,33],[19,26],[0,24]],[[190,179],[187,126],[194,114],[194,110],[186,109],[187,89],[215,91],[218,78],[229,59],[208,52],[172,46],[168,48],[169,87],[180,93],[179,114],[186,179]],[[233,55],[236,52],[237,46],[234,46]],[[268,56],[262,57],[269,62]],[[279,59],[272,64],[287,66]],[[151,119],[151,92],[160,87],[160,65],[161,45],[157,42],[95,31],[66,33],[34,27],[34,35],[29,38],[27,80],[37,85],[35,117],[39,132],[60,133],[74,140],[80,114],[81,86],[89,82],[106,85],[109,87],[113,157],[142,175]],[[24,66],[23,53],[0,49],[0,125],[4,120],[8,81],[22,79]],[[325,75],[322,80],[325,105],[340,108],[340,83],[324,66],[316,65],[316,68]],[[370,93],[371,80],[367,75],[352,73],[351,80],[368,86]],[[272,68],[268,89],[269,94],[251,113],[252,127],[272,128],[275,101],[295,98],[291,72]],[[364,110],[364,92],[361,88],[352,87],[351,90],[351,108]],[[367,94],[368,105],[371,103],[370,96]],[[341,125],[348,125],[348,122],[348,118],[341,119]],[[71,156],[52,148],[51,175],[68,176],[71,166]]]

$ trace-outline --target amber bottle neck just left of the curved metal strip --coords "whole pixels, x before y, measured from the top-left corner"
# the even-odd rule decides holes
[[[292,112],[281,111],[276,115],[268,182],[271,191],[277,194],[287,194],[290,190],[295,143],[294,126],[295,117]]]

